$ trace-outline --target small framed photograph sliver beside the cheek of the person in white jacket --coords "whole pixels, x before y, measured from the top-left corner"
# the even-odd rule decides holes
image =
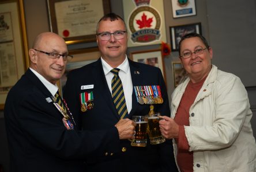
[[[174,87],[187,79],[187,72],[182,67],[181,62],[172,62],[172,69],[174,71]]]

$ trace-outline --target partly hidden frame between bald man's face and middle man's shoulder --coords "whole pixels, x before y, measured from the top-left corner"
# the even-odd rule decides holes
[[[84,65],[90,64],[91,62],[96,61],[100,57],[99,49],[89,48],[89,49],[78,49],[70,50],[69,54],[73,56],[73,59],[69,61],[66,65],[66,70],[61,79],[59,80],[59,91],[62,94],[63,88],[65,88],[67,81],[67,73],[73,69],[81,68]]]

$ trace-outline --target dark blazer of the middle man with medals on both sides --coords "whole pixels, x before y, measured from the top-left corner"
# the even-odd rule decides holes
[[[164,103],[156,104],[155,112],[170,116],[167,90],[160,69],[131,60],[129,64],[133,86],[160,85]],[[93,85],[93,88],[81,89],[82,85]],[[79,95],[91,91],[94,98],[93,109],[82,112]],[[120,119],[107,86],[100,58],[68,74],[64,99],[79,122],[78,127],[83,130],[105,130],[114,126]],[[149,105],[137,103],[133,90],[129,118],[133,115],[147,115],[149,110]],[[158,145],[150,145],[148,140],[146,147],[132,147],[129,140],[120,140],[118,151],[115,151],[115,146],[106,149],[106,154],[101,156],[95,154],[86,157],[85,171],[176,171],[171,140]]]

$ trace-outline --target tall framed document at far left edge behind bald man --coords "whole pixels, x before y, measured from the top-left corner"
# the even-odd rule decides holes
[[[0,110],[7,93],[29,66],[22,0],[0,2]]]

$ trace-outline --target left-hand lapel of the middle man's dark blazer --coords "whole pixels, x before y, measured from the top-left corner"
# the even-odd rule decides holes
[[[93,73],[95,73],[95,79],[94,79],[95,84],[98,85],[98,87],[99,87],[99,90],[97,89],[97,91],[100,92],[100,95],[105,100],[104,103],[108,104],[108,107],[111,109],[111,111],[113,112],[115,117],[120,119],[120,116],[118,115],[118,112],[115,108],[115,104],[112,100],[112,95],[111,95],[110,89],[108,89],[107,80],[104,75],[104,71],[103,71],[103,67],[102,67],[100,58],[99,58],[99,60],[97,60],[97,62],[95,62],[95,68],[94,68]]]

